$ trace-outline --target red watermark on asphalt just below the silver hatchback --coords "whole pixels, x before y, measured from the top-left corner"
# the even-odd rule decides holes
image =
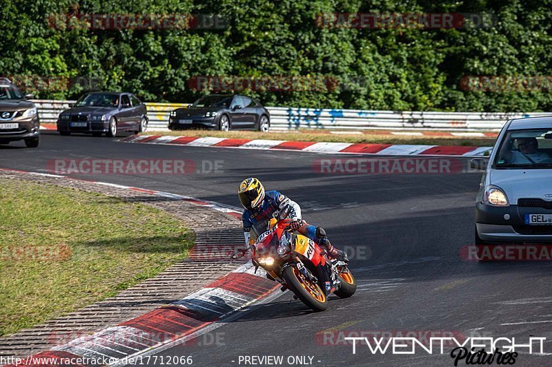
[[[552,244],[470,244],[460,248],[466,261],[551,261]]]

